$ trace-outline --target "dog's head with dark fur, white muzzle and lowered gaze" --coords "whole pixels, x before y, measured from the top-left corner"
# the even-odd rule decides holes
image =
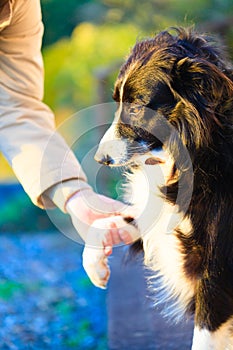
[[[148,154],[145,162],[156,164],[163,161],[158,150],[165,147],[177,158],[181,144],[195,158],[218,143],[229,124],[231,74],[222,49],[191,30],[138,42],[116,80],[118,108],[96,160],[119,166]]]

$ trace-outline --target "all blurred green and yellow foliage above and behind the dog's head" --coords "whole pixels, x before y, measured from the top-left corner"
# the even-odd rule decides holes
[[[231,0],[42,0],[42,9],[45,102],[58,122],[74,110],[110,101],[119,64],[146,35],[195,25],[221,36],[233,53]],[[102,99],[101,79],[106,84]]]

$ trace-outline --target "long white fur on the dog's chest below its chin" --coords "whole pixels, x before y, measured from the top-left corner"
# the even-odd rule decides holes
[[[157,280],[157,300],[170,300],[167,313],[174,319],[190,308],[194,296],[195,282],[186,275],[186,256],[179,238],[180,232],[188,236],[192,226],[161,193],[166,173],[167,169],[160,166],[139,165],[127,174],[125,190],[126,200],[140,212],[136,223],[143,232],[145,264]]]

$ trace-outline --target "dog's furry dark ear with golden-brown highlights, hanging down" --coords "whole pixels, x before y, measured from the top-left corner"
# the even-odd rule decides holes
[[[214,125],[221,128],[226,116],[232,117],[233,82],[229,73],[204,59],[186,57],[175,63],[171,87],[180,99],[175,111],[179,118],[173,120],[182,129],[184,143],[192,141],[196,148],[208,145]]]

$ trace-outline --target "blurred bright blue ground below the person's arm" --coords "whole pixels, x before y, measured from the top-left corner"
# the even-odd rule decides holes
[[[60,233],[0,236],[0,349],[107,348],[106,292]]]

